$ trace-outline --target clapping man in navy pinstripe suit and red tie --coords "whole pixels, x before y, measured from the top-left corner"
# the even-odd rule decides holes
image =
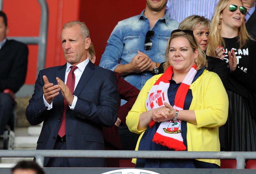
[[[87,58],[91,40],[84,23],[66,23],[61,41],[67,63],[39,72],[26,109],[31,125],[43,122],[37,149],[103,150],[102,127],[112,127],[117,120],[116,75]],[[75,70],[71,70],[73,66]],[[44,167],[104,166],[103,158],[45,158],[44,161]]]

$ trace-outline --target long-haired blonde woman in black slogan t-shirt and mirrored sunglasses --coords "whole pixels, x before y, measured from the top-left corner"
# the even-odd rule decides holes
[[[240,0],[222,0],[212,19],[207,55],[229,66],[226,151],[256,151],[255,42],[245,28],[247,9]]]

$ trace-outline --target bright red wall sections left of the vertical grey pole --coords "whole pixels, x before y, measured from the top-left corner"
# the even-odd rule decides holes
[[[32,8],[33,7],[33,8]],[[41,10],[34,0],[4,0],[3,11],[8,18],[8,36],[38,36]],[[29,45],[29,62],[26,84],[34,84],[37,64],[37,45]]]

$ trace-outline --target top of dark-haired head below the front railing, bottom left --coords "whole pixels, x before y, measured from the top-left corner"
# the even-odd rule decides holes
[[[38,166],[34,161],[20,161],[11,169],[13,173],[16,169],[31,169],[37,172],[37,174],[44,174],[41,167]]]

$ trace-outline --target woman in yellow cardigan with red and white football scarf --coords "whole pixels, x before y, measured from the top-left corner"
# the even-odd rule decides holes
[[[219,151],[228,98],[219,76],[207,71],[206,55],[192,30],[174,30],[165,72],[142,88],[126,124],[141,134],[135,150]],[[171,66],[170,66],[171,65]],[[136,159],[136,167],[219,168],[216,159]]]

